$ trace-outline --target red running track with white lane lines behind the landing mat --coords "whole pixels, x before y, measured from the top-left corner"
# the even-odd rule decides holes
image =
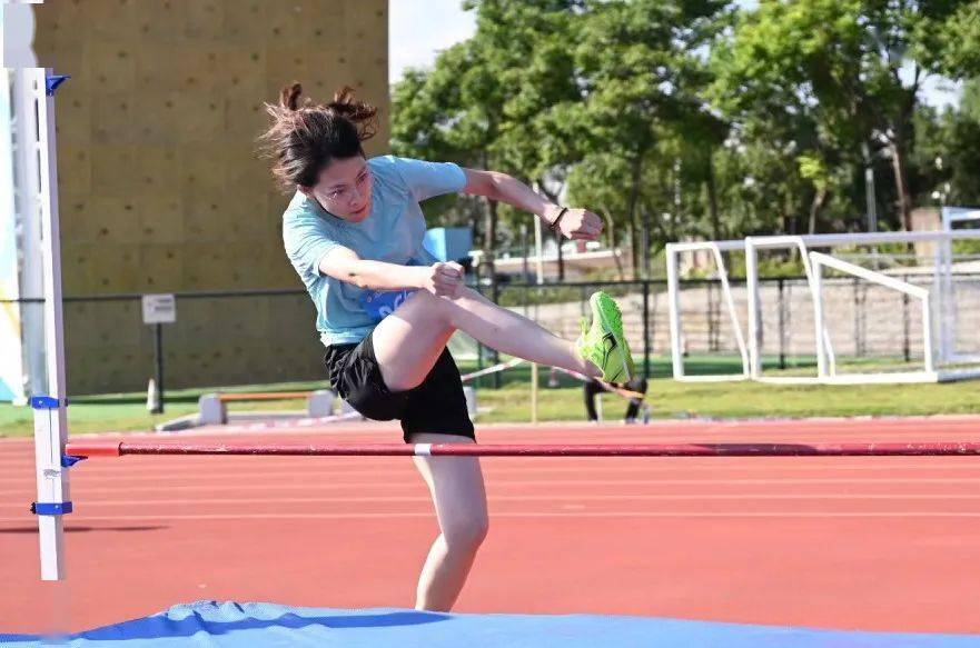
[[[186,438],[389,443],[399,436],[396,427],[346,426]],[[478,436],[487,443],[978,442],[980,418],[484,427]],[[0,441],[0,631],[56,622],[79,630],[201,598],[410,607],[436,534],[428,494],[405,457],[93,459],[72,468],[69,580],[42,584],[27,512],[32,460],[29,442]],[[461,611],[980,631],[978,457],[481,461],[491,535]]]

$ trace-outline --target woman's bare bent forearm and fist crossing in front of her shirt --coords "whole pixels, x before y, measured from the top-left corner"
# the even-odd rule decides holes
[[[399,266],[362,259],[357,252],[337,246],[319,262],[319,271],[358,288],[402,290],[424,288],[445,297],[458,297],[463,289],[463,268],[458,263]]]

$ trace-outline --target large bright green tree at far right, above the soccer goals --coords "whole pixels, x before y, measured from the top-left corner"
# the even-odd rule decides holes
[[[908,165],[922,83],[930,74],[962,73],[976,63],[952,42],[953,31],[929,27],[959,24],[976,4],[763,1],[743,14],[731,40],[715,52],[716,96],[743,119],[768,110],[811,119],[815,137],[799,153],[811,171],[813,160],[828,169],[867,165],[870,154],[883,150],[892,166],[897,221],[909,229]],[[826,177],[820,178],[829,190]]]

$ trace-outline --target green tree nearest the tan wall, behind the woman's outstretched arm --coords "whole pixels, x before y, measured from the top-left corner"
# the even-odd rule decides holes
[[[474,37],[395,88],[395,151],[506,171],[540,182],[556,199],[546,180],[561,186],[571,156],[554,124],[563,104],[581,99],[570,44],[577,7],[564,0],[465,2],[477,14]],[[485,213],[484,259],[492,268],[501,216],[516,213],[493,200]]]

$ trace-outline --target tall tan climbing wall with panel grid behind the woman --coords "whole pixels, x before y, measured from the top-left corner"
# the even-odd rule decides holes
[[[294,80],[317,100],[350,84],[388,141],[386,0],[57,0],[36,6],[58,94],[65,295],[301,288],[255,138]],[[139,302],[66,309],[72,393],[143,389]],[[311,307],[277,297],[178,300],[168,385],[323,375]]]

